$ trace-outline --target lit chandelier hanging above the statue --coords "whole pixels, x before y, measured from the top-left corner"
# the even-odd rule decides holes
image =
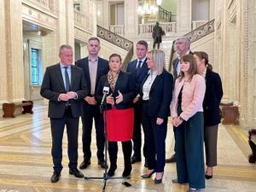
[[[143,0],[137,8],[138,15],[156,15],[158,13],[158,6],[161,0]]]

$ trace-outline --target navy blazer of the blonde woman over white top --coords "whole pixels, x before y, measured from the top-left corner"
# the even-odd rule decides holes
[[[149,75],[149,74],[148,74]],[[148,76],[143,80],[145,83]],[[143,84],[140,90],[143,98]],[[171,115],[170,104],[172,102],[173,77],[166,70],[154,79],[149,91],[148,116],[166,119]]]

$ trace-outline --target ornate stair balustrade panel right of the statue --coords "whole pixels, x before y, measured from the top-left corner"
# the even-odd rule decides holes
[[[185,34],[184,36],[189,38],[190,42],[193,43],[212,32],[214,32],[214,20],[210,20],[205,25],[196,28],[195,30]]]

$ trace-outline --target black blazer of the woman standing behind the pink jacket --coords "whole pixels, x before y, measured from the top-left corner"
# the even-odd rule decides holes
[[[218,73],[207,69],[206,93],[203,102],[205,126],[218,125],[220,123],[219,103],[223,96],[221,79]]]

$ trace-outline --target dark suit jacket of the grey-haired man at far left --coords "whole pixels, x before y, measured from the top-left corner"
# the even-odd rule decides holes
[[[78,99],[70,100],[71,110],[74,118],[80,116],[80,102],[88,95],[88,89],[84,80],[83,70],[71,65],[70,90],[78,94]],[[49,118],[61,118],[65,113],[66,102],[59,102],[61,93],[66,93],[64,81],[61,75],[60,63],[46,68],[40,94],[49,99]]]

